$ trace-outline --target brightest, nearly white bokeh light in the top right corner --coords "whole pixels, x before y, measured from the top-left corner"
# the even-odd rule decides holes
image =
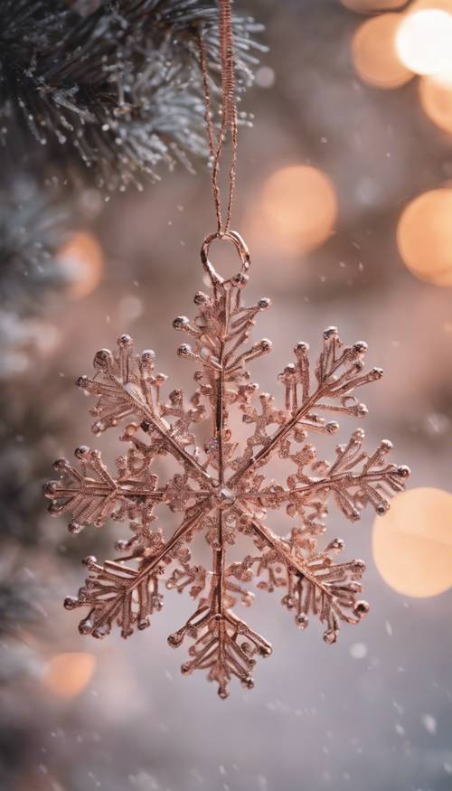
[[[400,61],[416,74],[438,74],[452,65],[452,14],[438,7],[404,14],[395,39]]]

